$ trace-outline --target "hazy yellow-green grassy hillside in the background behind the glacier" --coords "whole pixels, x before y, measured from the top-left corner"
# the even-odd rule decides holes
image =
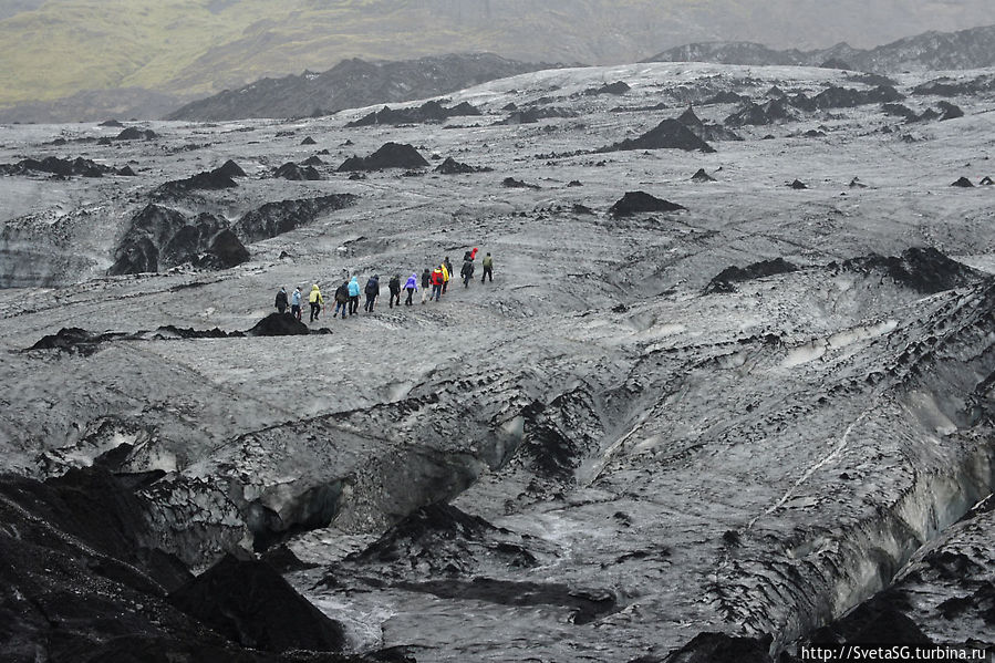
[[[0,106],[81,90],[208,95],[344,58],[491,51],[625,62],[688,41],[873,45],[988,22],[987,0],[20,0],[0,11]],[[6,18],[4,18],[6,17]],[[883,31],[883,32],[882,32]]]

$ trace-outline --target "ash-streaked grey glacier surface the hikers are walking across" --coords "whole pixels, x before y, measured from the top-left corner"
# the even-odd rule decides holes
[[[991,655],[992,75],[10,127],[2,656]],[[269,317],[474,247],[438,302]]]

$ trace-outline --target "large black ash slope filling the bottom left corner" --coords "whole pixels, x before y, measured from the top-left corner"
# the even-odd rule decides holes
[[[0,536],[0,660],[261,663],[166,602],[190,574],[154,547],[154,509],[136,488],[156,478],[101,468],[44,484],[0,477],[10,532]]]

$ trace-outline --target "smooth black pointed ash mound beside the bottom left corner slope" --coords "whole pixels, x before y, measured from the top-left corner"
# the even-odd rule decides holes
[[[169,602],[242,646],[340,651],[341,624],[321,613],[262,561],[226,556],[169,594]]]

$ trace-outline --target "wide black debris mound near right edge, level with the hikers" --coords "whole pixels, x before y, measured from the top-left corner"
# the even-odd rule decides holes
[[[829,267],[840,266],[830,263]],[[983,278],[978,271],[951,260],[932,247],[913,247],[902,251],[900,257],[871,253],[846,260],[841,267],[861,273],[884,273],[895,283],[923,294],[962,288]]]

